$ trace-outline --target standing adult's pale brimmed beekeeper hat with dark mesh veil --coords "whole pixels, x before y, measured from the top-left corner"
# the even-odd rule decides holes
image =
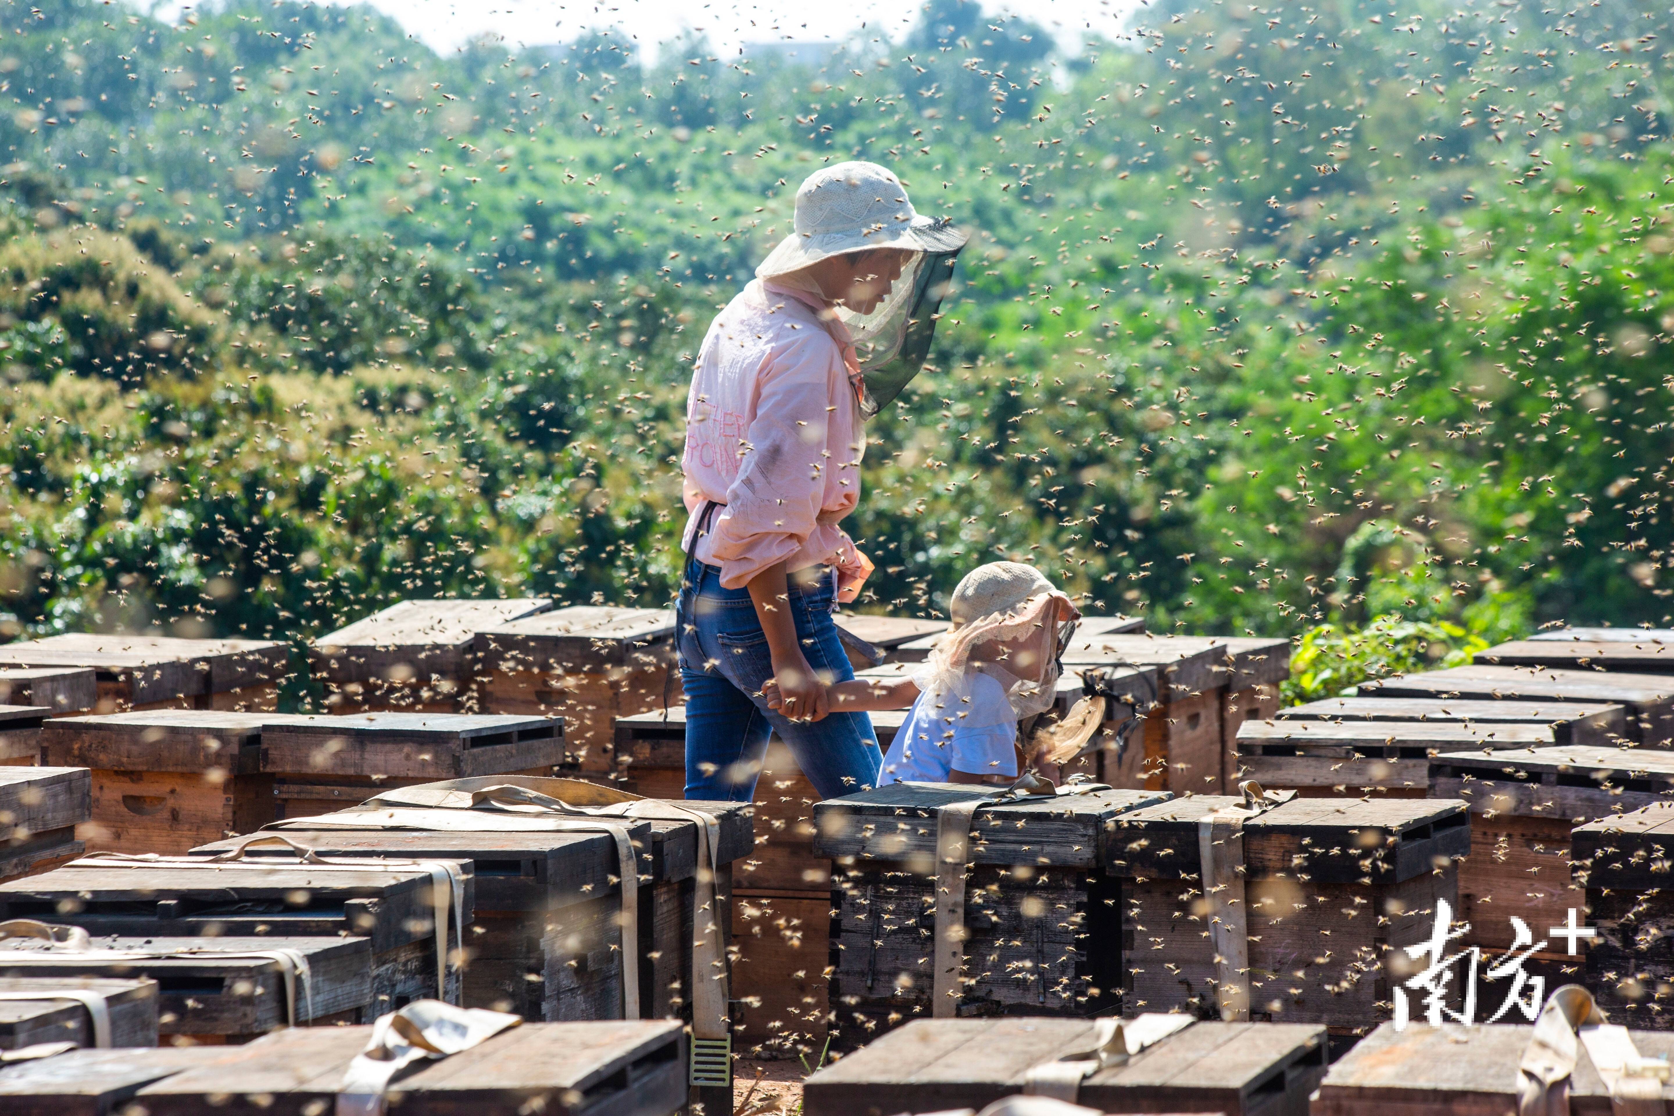
[[[839,162],[815,171],[797,189],[793,231],[755,274],[795,283],[800,278],[795,273],[829,256],[881,248],[912,253],[889,296],[870,313],[835,308],[860,361],[860,410],[876,415],[924,366],[936,311],[966,239],[969,233],[953,228],[947,218],[926,218],[912,209],[907,189],[887,167]]]

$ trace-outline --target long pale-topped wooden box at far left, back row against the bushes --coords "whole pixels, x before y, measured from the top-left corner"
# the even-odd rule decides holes
[[[0,646],[0,664],[90,668],[99,713],[273,709],[290,649],[268,639],[49,636]]]

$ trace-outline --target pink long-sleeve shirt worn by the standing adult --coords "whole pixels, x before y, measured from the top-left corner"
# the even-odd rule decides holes
[[[852,599],[872,564],[837,525],[860,500],[865,430],[854,345],[819,298],[755,279],[710,325],[686,400],[681,545],[740,589],[775,562],[830,564]]]

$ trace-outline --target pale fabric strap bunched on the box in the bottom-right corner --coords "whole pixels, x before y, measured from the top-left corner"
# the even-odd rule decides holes
[[[1627,1027],[1604,1021],[1592,992],[1565,984],[1540,1009],[1535,1034],[1517,1066],[1517,1116],[1570,1114],[1570,1074],[1582,1046],[1610,1089],[1612,1116],[1667,1113],[1662,1103],[1667,1059],[1641,1057]]]

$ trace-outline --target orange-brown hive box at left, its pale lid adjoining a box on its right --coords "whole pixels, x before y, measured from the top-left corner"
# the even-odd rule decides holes
[[[42,760],[90,770],[90,815],[79,830],[95,852],[182,853],[273,820],[261,733],[281,713],[141,709],[52,718]]]

